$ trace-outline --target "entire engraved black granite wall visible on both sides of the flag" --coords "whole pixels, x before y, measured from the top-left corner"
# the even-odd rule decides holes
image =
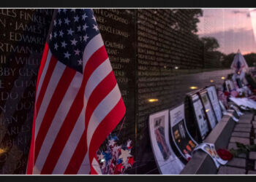
[[[194,12],[193,12],[194,11]],[[221,84],[230,70],[204,59],[191,17],[198,9],[94,9],[127,114],[116,127],[133,142],[128,173],[159,173],[148,115],[184,101],[191,87]],[[37,70],[52,9],[0,9],[0,173],[25,173]],[[195,23],[194,23],[195,24]],[[206,62],[207,60],[207,62]],[[206,66],[207,65],[207,66]]]

